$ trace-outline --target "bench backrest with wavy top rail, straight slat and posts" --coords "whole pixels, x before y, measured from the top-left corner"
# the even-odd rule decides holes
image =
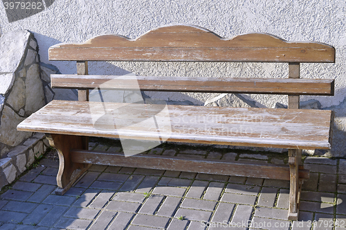
[[[318,42],[286,42],[264,33],[224,39],[196,26],[166,26],[138,39],[101,35],[81,44],[57,44],[49,48],[49,60],[77,61],[78,76],[52,75],[52,87],[77,88],[79,100],[111,79],[87,76],[87,61],[156,62],[289,62],[289,78],[161,78],[138,76],[140,89],[152,91],[287,94],[289,108],[299,108],[299,95],[334,95],[334,80],[300,78],[300,62],[335,62],[335,49]],[[129,89],[126,78],[109,88]]]

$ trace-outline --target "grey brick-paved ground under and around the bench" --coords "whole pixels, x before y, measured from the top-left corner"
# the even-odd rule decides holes
[[[91,148],[96,150],[121,150],[108,146],[91,143]],[[153,149],[149,154],[185,154],[188,157],[268,163],[287,160],[280,159],[286,154],[245,154],[230,148],[210,146],[167,145]],[[279,156],[279,159],[273,155]],[[305,159],[305,166],[311,174],[303,186],[300,221],[289,222],[286,219],[289,182],[92,166],[73,188],[59,196],[53,193],[58,161],[51,158],[39,161],[37,168],[20,177],[0,195],[1,230],[346,230],[345,159]],[[313,222],[316,222],[314,227]]]

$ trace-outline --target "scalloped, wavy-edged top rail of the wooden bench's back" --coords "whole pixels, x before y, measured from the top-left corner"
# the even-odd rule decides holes
[[[335,62],[333,46],[286,42],[266,33],[222,38],[197,26],[150,30],[137,39],[100,35],[84,43],[56,44],[49,60],[188,62]]]

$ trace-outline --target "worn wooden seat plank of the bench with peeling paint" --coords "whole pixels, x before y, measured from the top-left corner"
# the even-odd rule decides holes
[[[116,125],[127,128],[118,132],[114,126],[107,126],[107,121],[103,124],[105,128],[96,129],[89,103],[98,111],[94,116],[113,113]],[[104,137],[121,134],[129,139],[156,139],[156,127],[147,126],[142,121],[152,118],[162,105],[145,105],[143,112],[143,107],[136,104],[89,103],[53,100],[21,122],[17,130]],[[167,141],[291,149],[330,148],[331,111],[328,110],[185,105],[167,105],[167,109],[170,124],[160,130],[161,137]],[[166,118],[161,114],[155,117],[157,121]],[[136,123],[140,125],[127,126]]]

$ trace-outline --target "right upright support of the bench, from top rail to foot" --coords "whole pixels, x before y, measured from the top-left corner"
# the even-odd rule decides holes
[[[289,78],[300,78],[300,63],[289,63]],[[299,109],[300,96],[289,95],[289,109]],[[298,169],[302,166],[302,150],[289,150],[289,220],[298,220],[300,191],[302,179],[298,176]]]

